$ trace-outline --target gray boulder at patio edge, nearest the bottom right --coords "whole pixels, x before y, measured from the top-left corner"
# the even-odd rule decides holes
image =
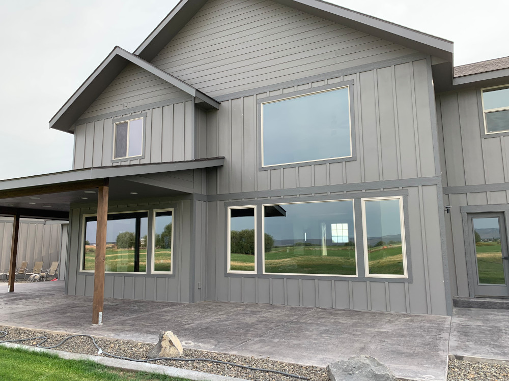
[[[327,365],[331,381],[395,381],[394,373],[371,356],[350,357]]]

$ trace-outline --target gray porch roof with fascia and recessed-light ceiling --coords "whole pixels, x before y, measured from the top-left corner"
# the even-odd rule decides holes
[[[155,174],[221,166],[223,157],[187,162],[100,167],[0,181],[0,215],[68,218],[70,205],[97,205],[97,187],[109,182],[109,201],[132,201],[191,194],[182,186],[154,179]]]

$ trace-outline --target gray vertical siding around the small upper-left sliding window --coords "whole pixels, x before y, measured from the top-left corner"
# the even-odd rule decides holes
[[[113,119],[147,114],[145,156],[112,163]],[[132,113],[119,112],[115,117],[78,123],[74,131],[74,169],[111,165],[179,162],[194,157],[194,104],[192,100]]]

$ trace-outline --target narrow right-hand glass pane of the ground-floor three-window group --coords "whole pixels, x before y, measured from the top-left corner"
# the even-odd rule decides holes
[[[404,275],[400,200],[365,201],[370,274]]]

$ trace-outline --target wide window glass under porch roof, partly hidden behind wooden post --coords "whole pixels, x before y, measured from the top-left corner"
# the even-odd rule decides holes
[[[106,272],[147,270],[147,212],[108,214]],[[95,268],[97,216],[84,218],[82,270]]]

